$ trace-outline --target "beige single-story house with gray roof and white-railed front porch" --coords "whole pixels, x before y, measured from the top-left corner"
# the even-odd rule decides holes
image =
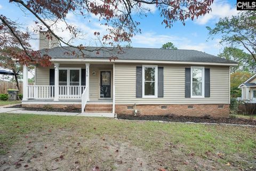
[[[194,50],[123,48],[124,53],[84,51],[77,58],[41,38],[52,66],[35,67],[35,85],[27,85],[24,67],[22,106],[75,105],[85,112],[141,115],[228,117],[229,67],[237,63]],[[54,41],[53,41],[54,42]],[[93,50],[95,47],[86,47]],[[116,55],[118,59],[109,60]]]

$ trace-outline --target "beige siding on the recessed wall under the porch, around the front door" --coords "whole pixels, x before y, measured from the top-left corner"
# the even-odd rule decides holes
[[[60,68],[81,68],[85,69],[85,64],[60,64]],[[43,68],[41,66],[36,67],[36,85],[50,85],[50,69],[54,67]],[[113,72],[112,64],[91,64],[90,65],[90,100],[99,99],[99,76],[100,70],[111,70]],[[96,75],[92,75],[95,71]],[[113,73],[112,73],[113,74]],[[113,76],[111,76],[113,78]],[[113,85],[113,82],[111,82]]]

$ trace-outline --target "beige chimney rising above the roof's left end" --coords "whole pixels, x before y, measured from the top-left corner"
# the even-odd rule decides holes
[[[59,41],[55,36],[52,36],[52,39],[49,39],[47,35],[50,35],[49,31],[39,32],[39,50],[42,50],[43,48],[49,49],[59,46]]]

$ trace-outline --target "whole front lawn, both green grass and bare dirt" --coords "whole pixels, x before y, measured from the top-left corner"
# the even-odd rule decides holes
[[[255,170],[255,132],[252,127],[4,113],[0,170]]]

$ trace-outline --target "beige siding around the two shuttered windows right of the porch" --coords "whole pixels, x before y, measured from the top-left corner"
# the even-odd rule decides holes
[[[229,103],[229,67],[205,67],[210,68],[210,97],[185,98],[185,68],[190,66],[158,65],[164,67],[164,97],[137,98],[136,66],[141,64],[115,64],[116,104]]]

